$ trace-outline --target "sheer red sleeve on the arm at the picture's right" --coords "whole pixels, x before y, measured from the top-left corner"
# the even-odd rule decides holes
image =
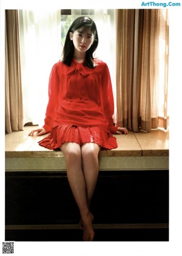
[[[109,68],[107,65],[104,66],[103,72],[103,108],[106,119],[109,121],[108,129],[111,133],[116,133],[118,127],[113,123],[113,112],[114,112],[114,102],[113,102],[113,92],[112,83],[110,79]]]

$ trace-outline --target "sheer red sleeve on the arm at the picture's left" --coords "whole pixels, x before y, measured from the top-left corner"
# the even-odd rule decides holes
[[[59,75],[56,69],[56,64],[53,66],[49,77],[49,102],[44,119],[44,129],[46,132],[50,132],[53,127],[55,108],[58,102],[58,91],[59,91]]]

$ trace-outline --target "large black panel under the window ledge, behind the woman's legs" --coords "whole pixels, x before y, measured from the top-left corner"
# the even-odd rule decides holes
[[[92,212],[95,225],[168,223],[169,171],[99,172]],[[66,173],[6,173],[6,225],[60,225],[78,221],[78,207]],[[8,230],[8,234],[17,232]]]

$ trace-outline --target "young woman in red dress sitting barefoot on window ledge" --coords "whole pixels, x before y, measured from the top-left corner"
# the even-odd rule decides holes
[[[62,60],[56,63],[49,80],[49,103],[42,128],[30,136],[48,137],[39,141],[48,149],[60,148],[66,157],[67,177],[81,220],[83,240],[93,241],[90,201],[98,178],[98,153],[117,148],[115,134],[127,129],[113,124],[113,94],[109,69],[94,59],[98,33],[93,20],[81,16],[67,32]]]

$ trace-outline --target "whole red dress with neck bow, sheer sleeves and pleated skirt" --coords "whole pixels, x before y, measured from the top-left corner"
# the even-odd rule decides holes
[[[95,67],[73,62],[56,63],[50,73],[49,102],[44,129],[50,134],[41,146],[57,149],[64,142],[97,143],[105,149],[117,148],[118,127],[113,124],[113,93],[109,69],[101,60]]]

